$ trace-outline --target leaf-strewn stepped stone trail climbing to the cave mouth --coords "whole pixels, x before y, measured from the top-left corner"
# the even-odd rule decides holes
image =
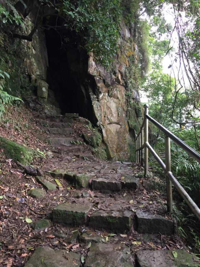
[[[15,238],[4,240],[15,266],[199,266],[142,167],[95,157],[80,137],[87,121],[76,114],[36,119],[53,156],[42,177],[29,177],[26,203],[17,207],[22,223],[10,224]],[[24,223],[27,216],[33,223]]]

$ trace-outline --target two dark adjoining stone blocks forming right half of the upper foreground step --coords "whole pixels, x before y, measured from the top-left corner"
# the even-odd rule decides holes
[[[99,191],[120,191],[123,188],[137,189],[140,185],[139,179],[131,175],[122,176],[123,179],[115,181],[112,178],[95,178],[92,180],[92,189]]]

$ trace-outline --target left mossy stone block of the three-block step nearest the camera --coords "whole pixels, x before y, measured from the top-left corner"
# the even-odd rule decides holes
[[[53,222],[70,225],[86,224],[90,208],[83,204],[59,204],[53,209]]]

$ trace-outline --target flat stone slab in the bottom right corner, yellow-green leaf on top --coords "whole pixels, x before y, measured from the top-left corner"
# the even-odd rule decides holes
[[[177,258],[173,257],[172,251],[177,253]],[[182,249],[175,250],[139,250],[136,251],[138,267],[197,267],[200,263],[197,257]]]

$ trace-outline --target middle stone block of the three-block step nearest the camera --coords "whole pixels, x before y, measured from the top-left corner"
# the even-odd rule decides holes
[[[90,215],[89,226],[115,232],[130,231],[132,215],[130,211],[96,211]]]

